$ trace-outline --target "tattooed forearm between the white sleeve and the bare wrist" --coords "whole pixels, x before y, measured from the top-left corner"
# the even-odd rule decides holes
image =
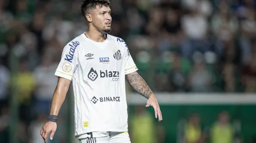
[[[144,96],[145,98],[148,99],[153,94],[147,83],[137,72],[125,75],[125,79],[137,93]]]

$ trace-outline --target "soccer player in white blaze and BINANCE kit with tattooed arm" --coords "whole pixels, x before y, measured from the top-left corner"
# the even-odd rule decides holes
[[[80,6],[88,21],[88,31],[63,49],[55,75],[59,77],[53,94],[48,122],[41,129],[46,142],[53,138],[57,115],[73,81],[75,98],[75,137],[79,142],[130,143],[127,129],[125,79],[142,96],[146,107],[153,106],[155,118],[162,120],[157,98],[136,72],[138,69],[125,42],[109,35],[109,0],[83,0]]]

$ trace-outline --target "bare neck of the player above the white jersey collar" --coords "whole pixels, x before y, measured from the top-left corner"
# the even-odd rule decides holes
[[[95,42],[104,42],[107,38],[107,34],[105,32],[101,33],[96,30],[88,30],[85,35],[92,41]]]

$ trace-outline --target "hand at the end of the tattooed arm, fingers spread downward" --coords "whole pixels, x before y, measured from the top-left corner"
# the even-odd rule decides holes
[[[162,113],[161,113],[161,110],[160,110],[160,107],[159,107],[159,104],[157,102],[157,98],[155,95],[151,95],[149,97],[149,99],[147,100],[146,107],[149,107],[149,106],[153,106],[153,108],[155,110],[155,117],[157,118],[157,116],[158,116],[158,121],[160,122],[162,120]]]

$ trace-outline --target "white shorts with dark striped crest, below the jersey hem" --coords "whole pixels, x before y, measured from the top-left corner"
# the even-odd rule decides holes
[[[79,143],[131,143],[128,132],[92,132],[87,135],[87,138],[79,139]]]

